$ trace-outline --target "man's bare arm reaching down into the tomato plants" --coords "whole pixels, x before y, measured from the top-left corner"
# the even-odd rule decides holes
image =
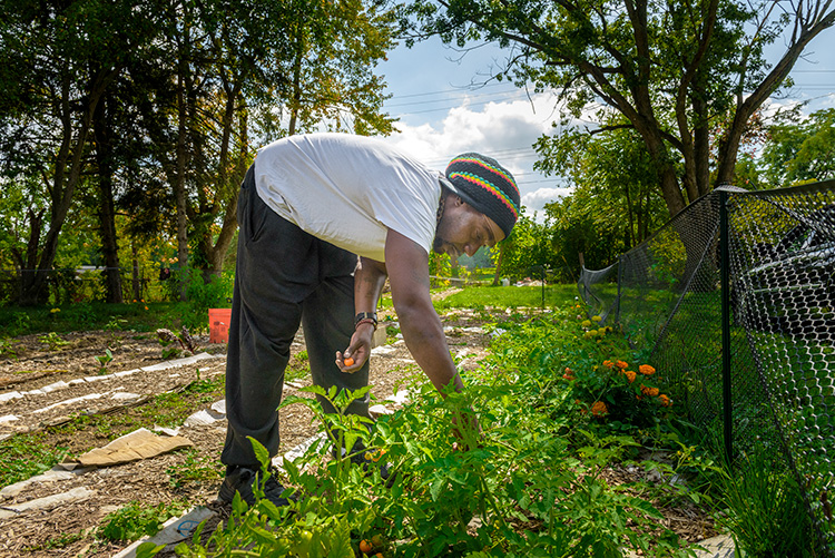
[[[450,356],[441,319],[429,292],[429,254],[402,234],[389,229],[385,267],[392,287],[392,302],[409,351],[436,390],[452,382],[464,389]]]

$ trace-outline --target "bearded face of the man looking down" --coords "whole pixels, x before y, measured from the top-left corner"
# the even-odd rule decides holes
[[[504,232],[493,219],[451,195],[435,229],[432,249],[454,260],[461,254],[472,256],[482,246],[495,246],[503,238]]]

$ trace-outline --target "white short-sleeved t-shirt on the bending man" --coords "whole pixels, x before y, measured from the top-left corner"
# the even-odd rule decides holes
[[[429,254],[441,173],[364,136],[289,136],[258,150],[255,185],[285,219],[331,244],[385,261],[396,231]]]

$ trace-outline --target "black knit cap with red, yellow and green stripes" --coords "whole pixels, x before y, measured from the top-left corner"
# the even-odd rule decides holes
[[[465,153],[446,166],[446,178],[455,194],[510,235],[519,217],[519,188],[508,169],[491,157]]]

